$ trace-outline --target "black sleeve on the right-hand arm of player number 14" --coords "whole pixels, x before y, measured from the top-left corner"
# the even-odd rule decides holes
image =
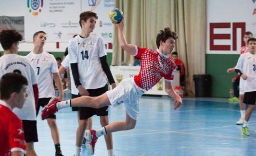
[[[113,75],[109,69],[109,66],[108,66],[108,63],[107,63],[107,57],[106,55],[105,56],[102,56],[100,58],[101,60],[101,63],[102,63],[102,69],[103,71],[105,72],[105,74],[107,75],[107,78],[108,78],[108,81],[109,81],[109,84],[111,84],[112,86],[112,89],[115,88],[116,84],[115,84],[115,80],[113,78]]]

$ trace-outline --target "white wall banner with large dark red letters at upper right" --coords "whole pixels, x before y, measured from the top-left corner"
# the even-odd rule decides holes
[[[207,1],[208,54],[240,54],[243,34],[256,36],[256,0]]]

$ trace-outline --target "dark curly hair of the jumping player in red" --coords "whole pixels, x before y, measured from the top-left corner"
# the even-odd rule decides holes
[[[172,37],[173,39],[177,39],[177,33],[174,31],[171,31],[171,29],[169,27],[166,27],[164,30],[160,30],[160,33],[157,34],[156,36],[156,46],[157,48],[160,47],[160,41],[166,42],[166,40],[170,37]]]

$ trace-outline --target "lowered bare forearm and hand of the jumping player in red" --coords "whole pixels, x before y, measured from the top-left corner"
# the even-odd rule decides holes
[[[174,98],[174,109],[176,110],[177,108],[180,107],[181,103],[182,103],[182,99],[181,97],[174,91],[174,89],[172,88],[172,84],[170,81],[166,81],[165,80],[165,91],[166,93],[170,96]]]

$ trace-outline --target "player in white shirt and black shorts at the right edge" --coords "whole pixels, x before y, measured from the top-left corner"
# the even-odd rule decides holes
[[[256,38],[248,39],[249,52],[240,56],[235,67],[236,72],[243,78],[243,103],[248,105],[245,112],[242,132],[249,136],[248,121],[256,104]]]

